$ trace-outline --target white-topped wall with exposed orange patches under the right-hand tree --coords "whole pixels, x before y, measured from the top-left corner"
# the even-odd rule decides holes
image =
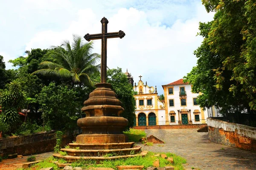
[[[256,152],[256,127],[207,118],[209,140]]]

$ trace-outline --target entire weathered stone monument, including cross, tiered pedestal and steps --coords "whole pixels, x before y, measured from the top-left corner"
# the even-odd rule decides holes
[[[70,143],[70,148],[63,148],[67,156],[54,154],[69,162],[76,159],[117,159],[138,156],[141,147],[134,147],[134,142],[125,142],[122,133],[128,125],[128,120],[120,117],[124,111],[122,102],[117,99],[112,85],[106,83],[107,78],[107,39],[123,38],[123,31],[108,33],[108,20],[103,17],[101,34],[86,34],[84,38],[102,40],[101,51],[101,83],[96,84],[96,89],[90,93],[89,99],[84,102],[81,111],[86,113],[85,118],[78,119],[77,125],[83,130],[76,137],[76,143]],[[105,155],[109,155],[106,157]]]

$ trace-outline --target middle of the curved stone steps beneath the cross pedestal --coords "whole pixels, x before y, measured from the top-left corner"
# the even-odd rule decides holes
[[[141,147],[132,147],[125,149],[73,149],[73,148],[62,148],[61,151],[66,151],[69,156],[117,156],[117,155],[134,155],[139,153]]]

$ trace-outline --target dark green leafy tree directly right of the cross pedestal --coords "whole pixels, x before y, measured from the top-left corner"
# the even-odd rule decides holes
[[[135,99],[132,85],[121,68],[109,69],[107,71],[107,82],[113,86],[113,91],[117,94],[118,99],[122,102],[122,107],[125,109],[120,116],[128,119],[128,127],[133,127],[135,117]]]

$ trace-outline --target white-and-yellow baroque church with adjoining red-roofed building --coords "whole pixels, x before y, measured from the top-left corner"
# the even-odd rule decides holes
[[[128,70],[125,75],[133,90],[136,100],[134,126],[148,125],[187,125],[206,123],[208,110],[200,108],[197,104],[199,94],[192,93],[192,85],[184,83],[183,79],[162,85],[164,100],[161,101],[157,94],[157,87],[149,86],[143,82],[135,82]]]

